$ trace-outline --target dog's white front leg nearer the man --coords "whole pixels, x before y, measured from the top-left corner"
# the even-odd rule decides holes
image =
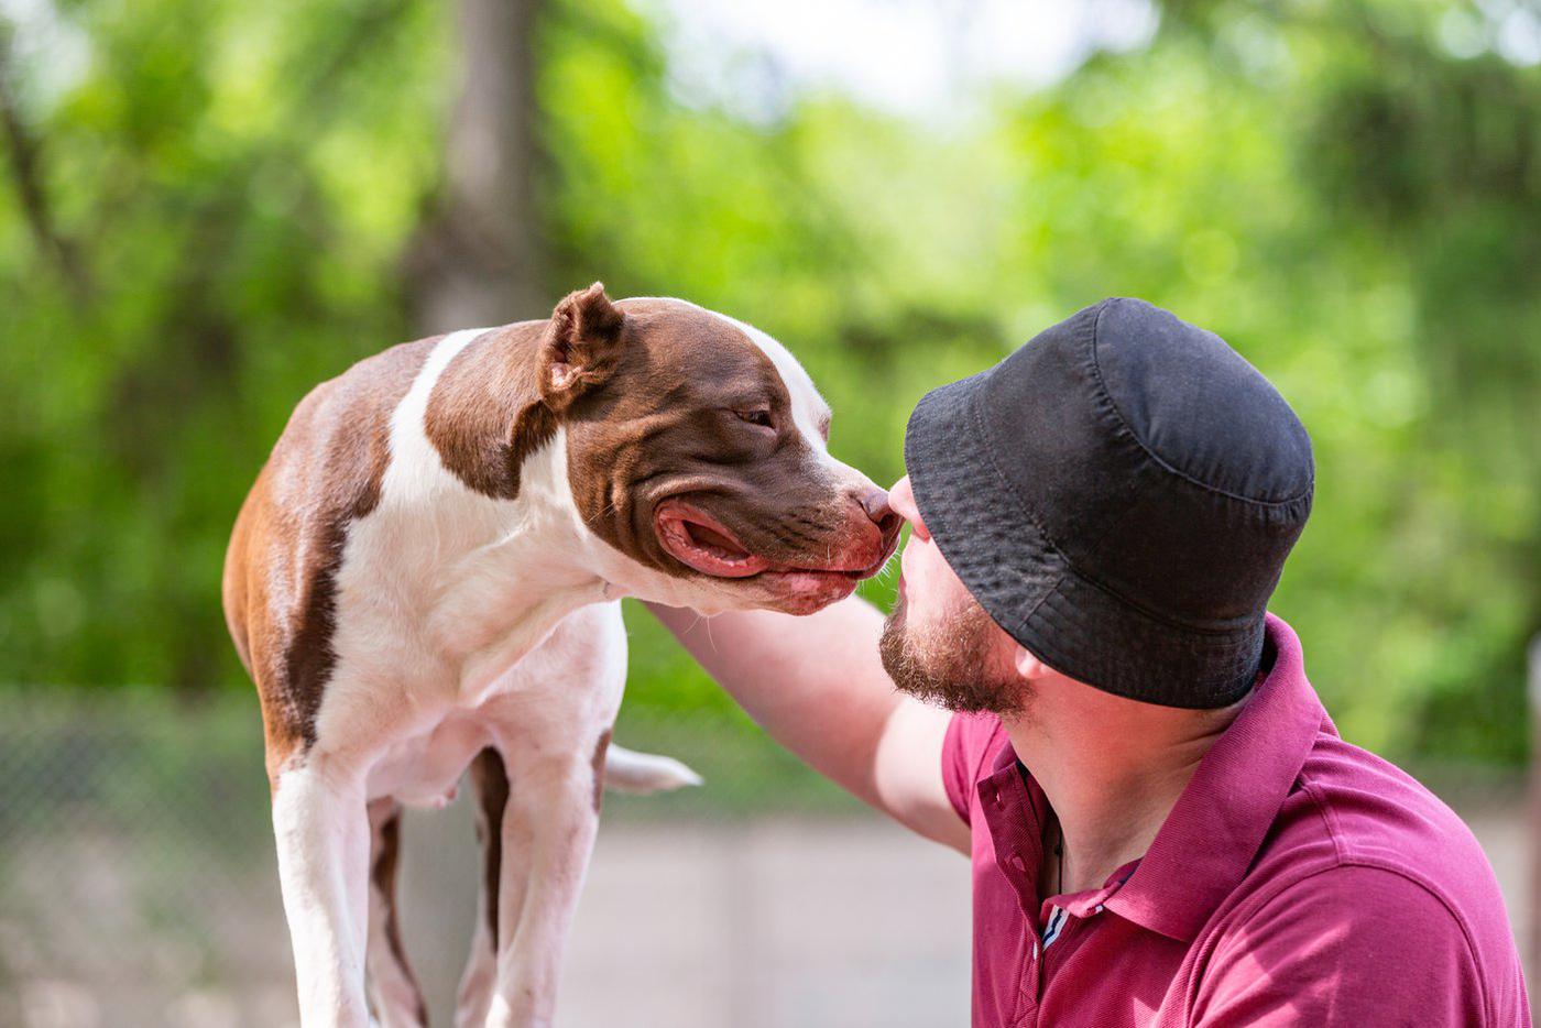
[[[510,766],[498,891],[498,983],[487,1023],[549,1028],[562,949],[599,825],[606,732],[593,755]]]

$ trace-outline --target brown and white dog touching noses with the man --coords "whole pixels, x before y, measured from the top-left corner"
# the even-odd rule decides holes
[[[618,600],[807,613],[849,595],[898,518],[828,430],[764,333],[598,284],[547,321],[387,350],[299,404],[223,600],[262,700],[305,1025],[424,1022],[399,814],[447,801],[467,766],[487,872],[456,1020],[550,1023],[606,772],[693,780],[609,746]]]

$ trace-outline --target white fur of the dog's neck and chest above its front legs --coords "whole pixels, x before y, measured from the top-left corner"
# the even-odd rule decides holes
[[[347,530],[336,664],[317,743],[370,754],[371,797],[442,801],[476,752],[575,754],[613,717],[619,609],[584,570],[564,433],[522,465],[519,495],[452,475],[424,435],[447,338],[396,407],[376,507]]]

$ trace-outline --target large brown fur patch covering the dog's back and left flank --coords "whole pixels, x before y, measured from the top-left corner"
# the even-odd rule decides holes
[[[348,526],[379,502],[391,412],[439,339],[393,347],[311,390],[236,519],[225,620],[262,700],[270,781],[316,740]]]

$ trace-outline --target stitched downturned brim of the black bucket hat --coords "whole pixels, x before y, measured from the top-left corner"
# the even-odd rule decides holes
[[[1105,692],[1211,709],[1251,689],[1264,618],[1199,632],[1140,610],[1071,566],[997,469],[979,410],[995,368],[922,398],[905,430],[905,470],[942,556],[980,607],[1040,661]]]

